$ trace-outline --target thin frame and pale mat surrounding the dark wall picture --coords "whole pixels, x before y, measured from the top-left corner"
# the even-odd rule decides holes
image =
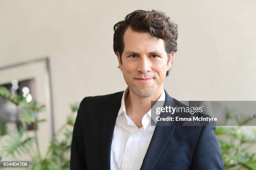
[[[33,80],[32,89],[35,99],[40,105],[46,105],[46,109],[38,114],[38,118],[40,117],[40,119],[46,119],[47,121],[38,124],[38,127],[36,127],[39,142],[41,141],[41,150],[46,151],[49,143],[44,141],[51,140],[55,132],[49,57],[1,66],[0,85],[10,84],[13,80],[18,80],[19,82]],[[14,127],[10,126],[11,129],[15,130]]]

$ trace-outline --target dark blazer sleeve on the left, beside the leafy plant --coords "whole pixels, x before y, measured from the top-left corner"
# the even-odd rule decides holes
[[[74,123],[71,144],[70,170],[87,170],[84,140],[82,136],[82,107],[84,107],[85,98],[80,103],[77,111],[77,118]]]

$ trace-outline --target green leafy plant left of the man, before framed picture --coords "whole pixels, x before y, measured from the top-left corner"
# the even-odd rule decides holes
[[[0,95],[22,108],[22,111],[18,113],[22,128],[17,132],[7,133],[5,124],[0,123],[0,136],[6,136],[5,145],[1,148],[1,154],[3,155],[0,155],[0,160],[8,155],[16,158],[17,155],[26,154],[32,160],[32,170],[68,170],[70,165],[72,129],[75,121],[74,112],[78,110],[79,103],[70,105],[72,113],[67,116],[67,122],[54,133],[47,153],[43,157],[38,143],[37,128],[33,130],[34,135],[29,136],[26,125],[34,124],[37,127],[39,123],[46,121],[44,119],[37,119],[38,113],[45,109],[45,105],[39,105],[36,100],[26,102],[26,98],[23,95],[11,94],[4,86],[0,86]],[[64,139],[59,140],[61,133],[64,135]],[[35,148],[33,144],[36,144]]]

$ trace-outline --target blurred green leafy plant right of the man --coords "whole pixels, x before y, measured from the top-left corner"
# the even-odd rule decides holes
[[[256,131],[254,136],[248,136],[241,129],[253,118],[248,116],[232,116],[227,112],[229,118],[236,120],[238,126],[217,126],[215,134],[220,144],[220,152],[223,157],[226,170],[256,170],[256,153],[250,152],[251,146],[256,146]]]

